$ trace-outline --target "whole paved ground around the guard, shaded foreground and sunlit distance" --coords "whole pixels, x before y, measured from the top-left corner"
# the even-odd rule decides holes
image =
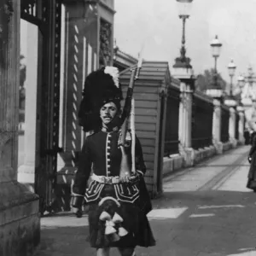
[[[165,194],[149,212],[157,245],[137,256],[255,256],[256,195],[246,189],[247,146],[164,179]],[[87,217],[42,218],[36,256],[96,255],[85,241]],[[112,256],[119,255],[113,249]]]

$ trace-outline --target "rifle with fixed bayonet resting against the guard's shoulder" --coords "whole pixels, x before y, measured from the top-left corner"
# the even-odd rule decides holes
[[[127,89],[127,94],[125,98],[125,106],[123,108],[123,113],[121,116],[121,132],[119,136],[119,148],[121,149],[122,153],[122,160],[120,165],[120,174],[119,176],[131,176],[131,173],[136,172],[136,166],[135,166],[135,129],[134,129],[134,99],[133,99],[133,88],[135,81],[138,79],[140,70],[142,68],[142,57],[141,54],[139,55],[139,60],[137,62],[137,67],[131,68],[131,77],[130,77],[130,83]],[[132,110],[132,111],[131,111]],[[128,156],[125,152],[125,137],[128,129],[128,122],[129,118],[131,116],[131,156],[132,156],[132,166],[129,165],[128,162]]]

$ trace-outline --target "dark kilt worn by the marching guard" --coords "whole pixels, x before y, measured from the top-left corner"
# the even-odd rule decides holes
[[[99,204],[99,201],[104,198],[107,200]],[[115,200],[117,198],[113,184],[105,184],[100,199],[88,203],[90,234],[87,241],[90,242],[90,246],[96,248],[154,246],[154,236],[148,218],[140,207],[140,202],[119,201],[117,204]],[[101,219],[102,212],[107,212],[110,220],[115,214],[122,218],[122,222],[112,226],[116,232],[106,235],[107,222]],[[120,228],[126,231],[125,236],[120,235]]]

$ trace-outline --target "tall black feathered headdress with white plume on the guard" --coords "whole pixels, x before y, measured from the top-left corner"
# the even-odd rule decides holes
[[[102,105],[114,102],[119,108],[123,99],[118,68],[102,67],[90,73],[84,82],[83,96],[79,106],[79,125],[84,131],[96,131],[102,124]]]

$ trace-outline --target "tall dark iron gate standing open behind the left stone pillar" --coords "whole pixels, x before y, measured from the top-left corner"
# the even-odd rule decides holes
[[[61,0],[21,0],[20,18],[38,26],[35,193],[50,211],[59,138]]]

